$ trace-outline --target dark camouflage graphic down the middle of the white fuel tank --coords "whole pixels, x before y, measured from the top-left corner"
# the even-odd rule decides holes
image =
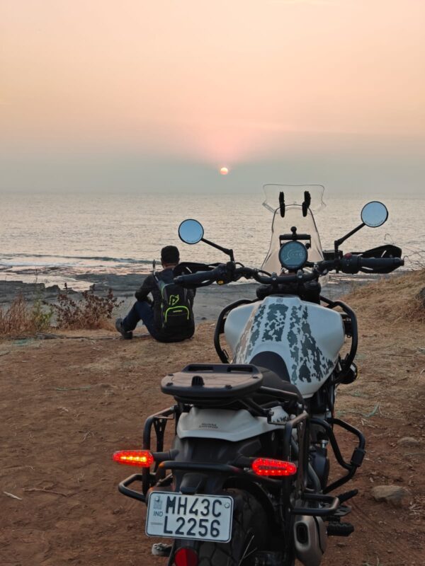
[[[254,348],[263,342],[286,342],[291,383],[322,381],[335,362],[324,356],[312,335],[305,304],[288,306],[283,297],[263,301],[251,312],[234,353],[234,362],[249,363]]]

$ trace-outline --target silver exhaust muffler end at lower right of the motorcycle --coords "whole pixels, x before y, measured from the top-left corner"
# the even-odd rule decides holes
[[[304,566],[319,566],[326,550],[326,526],[320,517],[300,515],[294,524],[295,554]]]

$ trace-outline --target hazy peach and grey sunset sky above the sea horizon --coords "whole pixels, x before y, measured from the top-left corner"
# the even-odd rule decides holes
[[[421,194],[424,29],[424,0],[0,0],[0,189]]]

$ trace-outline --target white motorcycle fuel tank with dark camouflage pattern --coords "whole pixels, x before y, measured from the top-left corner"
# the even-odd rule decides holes
[[[288,295],[234,308],[227,316],[225,337],[236,364],[254,363],[263,352],[262,365],[267,366],[266,352],[278,354],[290,383],[308,398],[334,370],[345,333],[339,313]]]

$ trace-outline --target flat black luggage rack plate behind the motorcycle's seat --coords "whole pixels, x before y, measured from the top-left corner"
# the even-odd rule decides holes
[[[166,395],[191,399],[237,399],[263,384],[261,371],[250,364],[190,364],[161,381]]]

